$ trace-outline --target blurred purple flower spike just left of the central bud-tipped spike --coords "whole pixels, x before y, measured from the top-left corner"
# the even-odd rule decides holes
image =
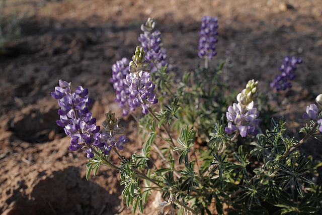
[[[129,99],[130,90],[128,85],[124,83],[124,78],[129,74],[129,61],[126,58],[116,61],[112,66],[112,78],[111,82],[116,90],[115,101],[119,103],[121,107],[122,116],[128,115],[129,111],[133,112],[134,107],[129,106],[131,99]]]

